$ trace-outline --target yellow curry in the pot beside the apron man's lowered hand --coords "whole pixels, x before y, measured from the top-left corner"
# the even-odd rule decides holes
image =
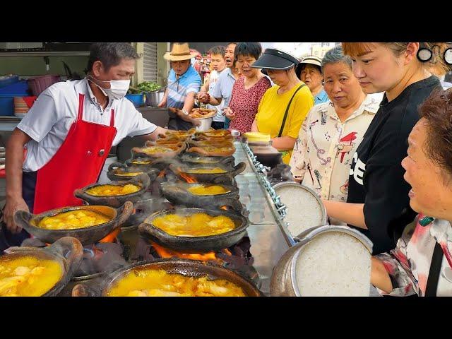
[[[93,210],[70,210],[52,217],[44,217],[37,226],[47,230],[73,230],[100,225],[110,220],[107,215]]]

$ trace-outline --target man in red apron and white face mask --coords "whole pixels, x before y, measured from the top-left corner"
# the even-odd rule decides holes
[[[124,98],[136,59],[131,44],[93,44],[88,76],[47,88],[14,129],[6,146],[3,232],[9,246],[29,236],[14,222],[16,210],[37,214],[81,205],[73,191],[97,182],[112,145],[126,136],[155,140],[165,133]]]

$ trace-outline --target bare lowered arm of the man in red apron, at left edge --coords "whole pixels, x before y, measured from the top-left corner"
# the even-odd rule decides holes
[[[6,145],[6,205],[4,222],[13,233],[20,232],[21,227],[14,222],[16,210],[29,211],[22,196],[23,147],[30,141],[30,136],[20,129],[14,129]]]

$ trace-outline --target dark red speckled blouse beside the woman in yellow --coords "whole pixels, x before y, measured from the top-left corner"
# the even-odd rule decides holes
[[[251,131],[263,93],[266,93],[266,90],[271,87],[270,80],[266,76],[259,79],[247,90],[244,81],[244,76],[235,81],[229,104],[232,112],[236,114],[235,119],[229,125],[229,129],[237,129],[240,133]]]

